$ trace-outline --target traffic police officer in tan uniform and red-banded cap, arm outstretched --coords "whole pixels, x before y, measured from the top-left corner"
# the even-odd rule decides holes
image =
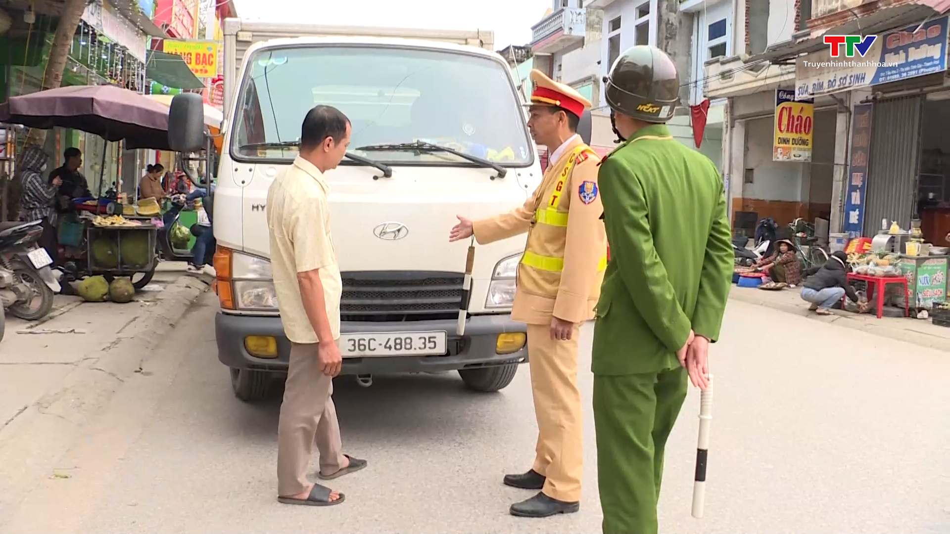
[[[512,505],[512,515],[547,517],[580,509],[578,336],[580,325],[594,316],[606,268],[606,239],[599,219],[599,157],[577,134],[590,102],[540,70],[532,70],[530,77],[535,88],[528,128],[535,142],[549,150],[542,182],[511,212],[474,222],[460,216],[450,239],[474,233],[485,244],[528,234],[511,318],[527,323],[538,443],[534,466],[506,475],[504,484],[541,490]]]

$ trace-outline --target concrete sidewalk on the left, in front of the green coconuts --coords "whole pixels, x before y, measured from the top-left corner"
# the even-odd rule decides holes
[[[153,281],[127,304],[56,296],[35,322],[7,316],[0,341],[0,516],[80,435],[87,417],[141,372],[210,277],[184,263],[160,264]]]

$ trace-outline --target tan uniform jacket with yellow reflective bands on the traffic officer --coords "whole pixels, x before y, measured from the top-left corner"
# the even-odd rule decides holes
[[[576,137],[550,163],[523,206],[475,221],[475,239],[485,244],[528,234],[512,319],[549,324],[554,315],[580,323],[594,317],[607,266],[599,157]]]

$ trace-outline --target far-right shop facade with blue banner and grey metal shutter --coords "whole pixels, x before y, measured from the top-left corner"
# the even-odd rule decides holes
[[[747,59],[748,64],[794,61],[797,99],[831,98],[843,107],[835,142],[843,147],[836,152],[843,152],[837,161],[844,164],[836,166],[832,186],[832,233],[871,237],[891,222],[908,229],[912,219],[921,219],[924,238],[946,244],[950,84],[945,10],[926,1],[886,8],[865,2],[851,13],[816,0],[812,11],[817,16],[808,21],[807,33]],[[844,47],[839,58],[831,57],[822,35],[849,34],[876,39],[864,57],[845,59]]]

